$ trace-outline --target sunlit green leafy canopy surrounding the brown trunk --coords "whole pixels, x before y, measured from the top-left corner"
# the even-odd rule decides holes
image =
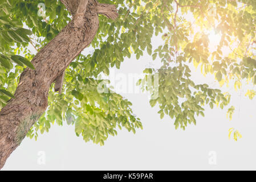
[[[44,3],[45,16],[39,16],[38,5]],[[38,137],[56,122],[75,123],[76,135],[84,140],[104,144],[108,135],[116,135],[116,127],[135,133],[142,128],[131,110],[132,103],[120,94],[97,92],[100,73],[120,68],[125,57],[140,59],[144,53],[161,61],[160,69],[145,69],[146,74],[159,74],[160,118],[169,115],[176,129],[196,124],[196,115],[204,116],[204,107],[230,102],[230,94],[207,84],[196,84],[190,66],[200,66],[203,74],[212,74],[220,85],[234,81],[240,88],[244,79],[256,84],[256,1],[254,0],[101,0],[119,7],[119,18],[100,16],[100,27],[88,55],[79,55],[67,68],[63,94],[50,89],[48,109],[27,134]],[[190,18],[189,18],[190,17]],[[191,18],[192,17],[192,18]],[[33,69],[32,44],[40,49],[54,38],[71,20],[60,1],[0,0],[0,108],[14,97],[19,76],[25,67]],[[27,28],[24,28],[27,27]],[[210,50],[209,32],[221,36],[217,48]],[[152,37],[161,36],[163,44],[152,48]],[[229,53],[225,50],[229,49]],[[19,56],[23,55],[23,56]],[[53,60],[54,61],[54,60]],[[139,80],[143,89],[151,90],[147,78]],[[110,89],[110,88],[109,88]],[[250,98],[255,96],[249,90]],[[231,115],[234,108],[228,112]],[[235,131],[235,135],[239,135]],[[237,138],[237,137],[236,137]]]

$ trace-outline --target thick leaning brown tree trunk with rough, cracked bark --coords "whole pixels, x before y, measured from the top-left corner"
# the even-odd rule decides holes
[[[99,27],[99,9],[109,18],[118,16],[115,6],[103,7],[96,0],[62,0],[62,3],[74,15],[73,19],[32,59],[35,70],[25,69],[15,98],[0,111],[0,169],[46,110],[52,82],[58,81],[71,61],[94,39]]]

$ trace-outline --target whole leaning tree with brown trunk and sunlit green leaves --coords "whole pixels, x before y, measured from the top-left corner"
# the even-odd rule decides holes
[[[54,122],[75,124],[76,135],[101,145],[116,127],[142,129],[131,102],[97,92],[104,81],[97,76],[120,68],[132,53],[140,59],[147,49],[161,60],[162,67],[145,69],[137,84],[153,96],[147,78],[159,76],[158,97],[150,104],[160,107],[160,118],[174,119],[176,129],[196,124],[206,105],[224,109],[230,103],[229,93],[192,80],[192,63],[221,85],[240,88],[244,79],[256,84],[254,0],[0,0],[0,9],[0,168],[26,135],[37,138]],[[211,30],[221,38],[214,51]],[[154,34],[164,40],[155,50]],[[94,52],[83,55],[89,45]],[[255,91],[247,95],[253,98]],[[228,109],[230,117],[233,111]]]

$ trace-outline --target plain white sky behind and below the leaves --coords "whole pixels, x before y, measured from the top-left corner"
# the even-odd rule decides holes
[[[152,40],[156,48],[162,39]],[[33,50],[32,47],[30,47]],[[89,51],[87,48],[85,51]],[[148,65],[160,64],[160,59],[151,61],[147,53],[140,60],[135,55],[125,59],[115,74],[141,74]],[[104,60],[103,60],[104,61]],[[214,76],[204,77],[200,68],[192,68],[193,80],[208,83],[218,88]],[[113,81],[113,80],[112,80]],[[230,84],[231,85],[231,84]],[[131,86],[131,85],[130,85]],[[92,142],[85,143],[76,137],[74,126],[54,125],[49,133],[39,135],[37,141],[25,138],[21,146],[11,154],[3,170],[172,170],[172,169],[256,169],[255,146],[255,99],[245,97],[241,91],[225,89],[231,93],[230,105],[235,106],[232,121],[226,111],[206,107],[205,117],[197,118],[197,126],[189,125],[185,131],[175,130],[174,121],[168,116],[160,119],[159,107],[151,107],[147,94],[123,94],[133,103],[134,113],[143,122],[144,129],[137,133],[117,130],[116,137],[109,136],[103,147]],[[242,134],[238,142],[229,140],[228,130],[234,127]],[[38,152],[46,154],[46,164],[38,164]],[[216,165],[211,165],[209,152],[216,152]]]

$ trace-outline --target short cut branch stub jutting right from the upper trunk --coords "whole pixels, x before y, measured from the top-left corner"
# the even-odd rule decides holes
[[[108,4],[101,4],[101,3],[98,6],[97,13],[101,15],[105,15],[111,19],[116,19],[119,16],[115,5],[108,5]]]

